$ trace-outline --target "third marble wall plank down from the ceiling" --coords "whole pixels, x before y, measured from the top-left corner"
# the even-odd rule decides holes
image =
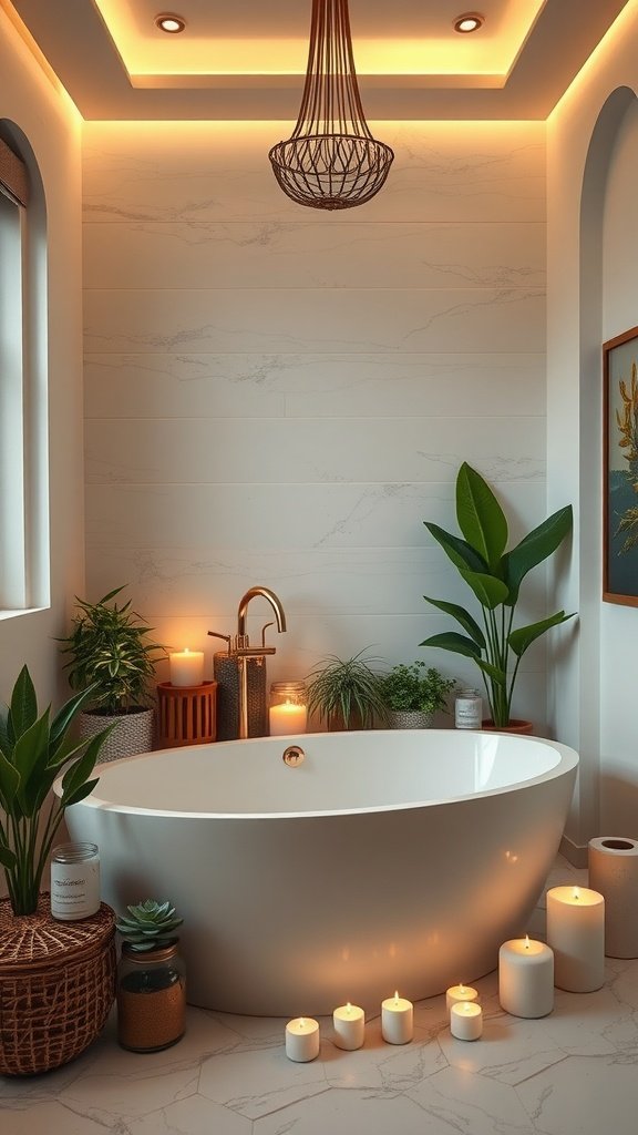
[[[534,287],[388,291],[90,289],[87,351],[540,351],[545,294]]]

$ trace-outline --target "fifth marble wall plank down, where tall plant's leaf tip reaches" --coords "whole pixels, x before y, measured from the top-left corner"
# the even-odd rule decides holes
[[[87,480],[119,484],[294,481],[431,482],[463,460],[493,479],[543,480],[545,419],[471,415],[395,418],[227,419],[211,436],[199,418],[108,419],[86,423]],[[498,454],[498,456],[495,456]]]

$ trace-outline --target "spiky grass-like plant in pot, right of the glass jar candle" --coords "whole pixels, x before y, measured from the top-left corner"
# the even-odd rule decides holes
[[[371,664],[379,658],[363,658],[364,647],[343,661],[328,655],[308,675],[308,712],[325,721],[330,732],[370,729],[375,717],[385,720],[380,678]]]

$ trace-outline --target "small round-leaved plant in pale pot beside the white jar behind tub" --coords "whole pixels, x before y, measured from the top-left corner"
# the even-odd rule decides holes
[[[447,695],[455,687],[422,659],[393,666],[380,680],[381,697],[391,729],[429,729],[434,714],[447,708]]]

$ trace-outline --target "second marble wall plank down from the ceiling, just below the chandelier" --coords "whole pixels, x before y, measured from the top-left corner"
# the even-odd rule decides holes
[[[544,225],[191,221],[84,226],[86,288],[545,285]]]

